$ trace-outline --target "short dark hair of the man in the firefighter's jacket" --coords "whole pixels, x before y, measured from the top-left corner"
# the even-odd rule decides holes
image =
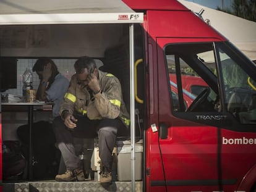
[[[92,73],[93,70],[96,68],[96,64],[94,59],[87,56],[82,56],[82,57],[79,57],[77,61],[75,61],[74,67],[75,67],[75,72],[78,74],[83,73],[83,69],[85,68],[88,70],[88,72]]]

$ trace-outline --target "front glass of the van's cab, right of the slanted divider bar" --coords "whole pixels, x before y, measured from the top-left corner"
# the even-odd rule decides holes
[[[256,123],[255,81],[237,61],[220,49],[224,101],[228,112],[241,123]]]

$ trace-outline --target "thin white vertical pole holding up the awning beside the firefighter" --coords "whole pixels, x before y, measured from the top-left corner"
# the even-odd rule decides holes
[[[134,91],[134,24],[129,26],[130,35],[130,164],[132,191],[135,191],[135,91]]]

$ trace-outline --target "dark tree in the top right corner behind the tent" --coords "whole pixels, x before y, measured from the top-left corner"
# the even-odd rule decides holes
[[[233,0],[232,9],[217,7],[217,10],[256,22],[256,0]]]

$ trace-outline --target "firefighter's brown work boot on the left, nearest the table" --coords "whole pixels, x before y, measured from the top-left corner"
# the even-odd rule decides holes
[[[74,170],[67,170],[64,174],[56,175],[57,182],[82,182],[85,180],[83,170],[78,168]]]

